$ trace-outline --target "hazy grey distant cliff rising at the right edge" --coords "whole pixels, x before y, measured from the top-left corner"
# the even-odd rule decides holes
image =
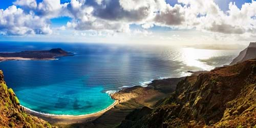
[[[241,51],[239,55],[233,59],[230,65],[234,65],[238,62],[242,62],[255,57],[256,57],[256,42],[250,42],[250,45],[246,49]]]

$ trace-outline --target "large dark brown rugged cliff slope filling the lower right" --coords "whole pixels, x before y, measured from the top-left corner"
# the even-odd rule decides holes
[[[155,109],[137,110],[119,127],[256,127],[255,97],[256,59],[251,59],[186,77]]]

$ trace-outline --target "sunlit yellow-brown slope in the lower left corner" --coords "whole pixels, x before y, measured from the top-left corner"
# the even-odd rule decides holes
[[[0,127],[51,127],[49,123],[24,112],[12,89],[8,89],[0,70]]]

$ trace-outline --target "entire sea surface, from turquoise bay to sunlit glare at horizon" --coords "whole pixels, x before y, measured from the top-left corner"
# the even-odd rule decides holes
[[[58,60],[0,62],[8,86],[23,106],[57,115],[101,111],[114,102],[106,92],[126,86],[145,86],[152,79],[189,75],[187,70],[210,70],[228,64],[239,53],[166,46],[46,42],[0,42],[0,46],[0,52],[61,48],[75,53]]]

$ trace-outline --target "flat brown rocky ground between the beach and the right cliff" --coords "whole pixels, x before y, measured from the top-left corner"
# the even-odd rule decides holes
[[[177,83],[184,79],[168,78],[153,80],[148,87],[135,86],[125,88],[118,93],[112,94],[112,98],[118,100],[118,104],[111,110],[105,112],[99,118],[86,123],[75,123],[68,125],[57,125],[58,127],[117,127],[125,117],[133,112],[147,106],[146,108],[155,108],[155,104],[173,93]],[[151,110],[151,109],[150,109]]]

